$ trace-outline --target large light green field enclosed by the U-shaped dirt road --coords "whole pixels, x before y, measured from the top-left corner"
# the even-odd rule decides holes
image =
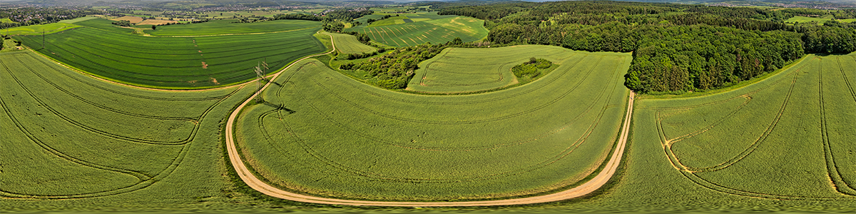
[[[427,96],[368,86],[309,60],[235,125],[246,163],[270,184],[324,197],[467,200],[574,187],[615,147],[627,54],[568,54],[542,80]]]

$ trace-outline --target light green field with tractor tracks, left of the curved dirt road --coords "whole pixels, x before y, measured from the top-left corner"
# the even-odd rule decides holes
[[[81,198],[95,206],[134,198],[189,204],[213,196],[224,187],[223,172],[212,168],[220,160],[219,121],[248,92],[135,89],[30,51],[0,54],[0,206],[45,199],[44,208],[74,203],[51,199]]]

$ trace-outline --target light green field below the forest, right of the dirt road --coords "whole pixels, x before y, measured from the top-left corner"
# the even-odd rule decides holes
[[[648,156],[663,157],[670,174],[682,175],[669,182],[694,184],[687,189],[853,202],[853,68],[854,55],[810,55],[730,92],[640,99],[633,141],[656,146],[645,150]]]

